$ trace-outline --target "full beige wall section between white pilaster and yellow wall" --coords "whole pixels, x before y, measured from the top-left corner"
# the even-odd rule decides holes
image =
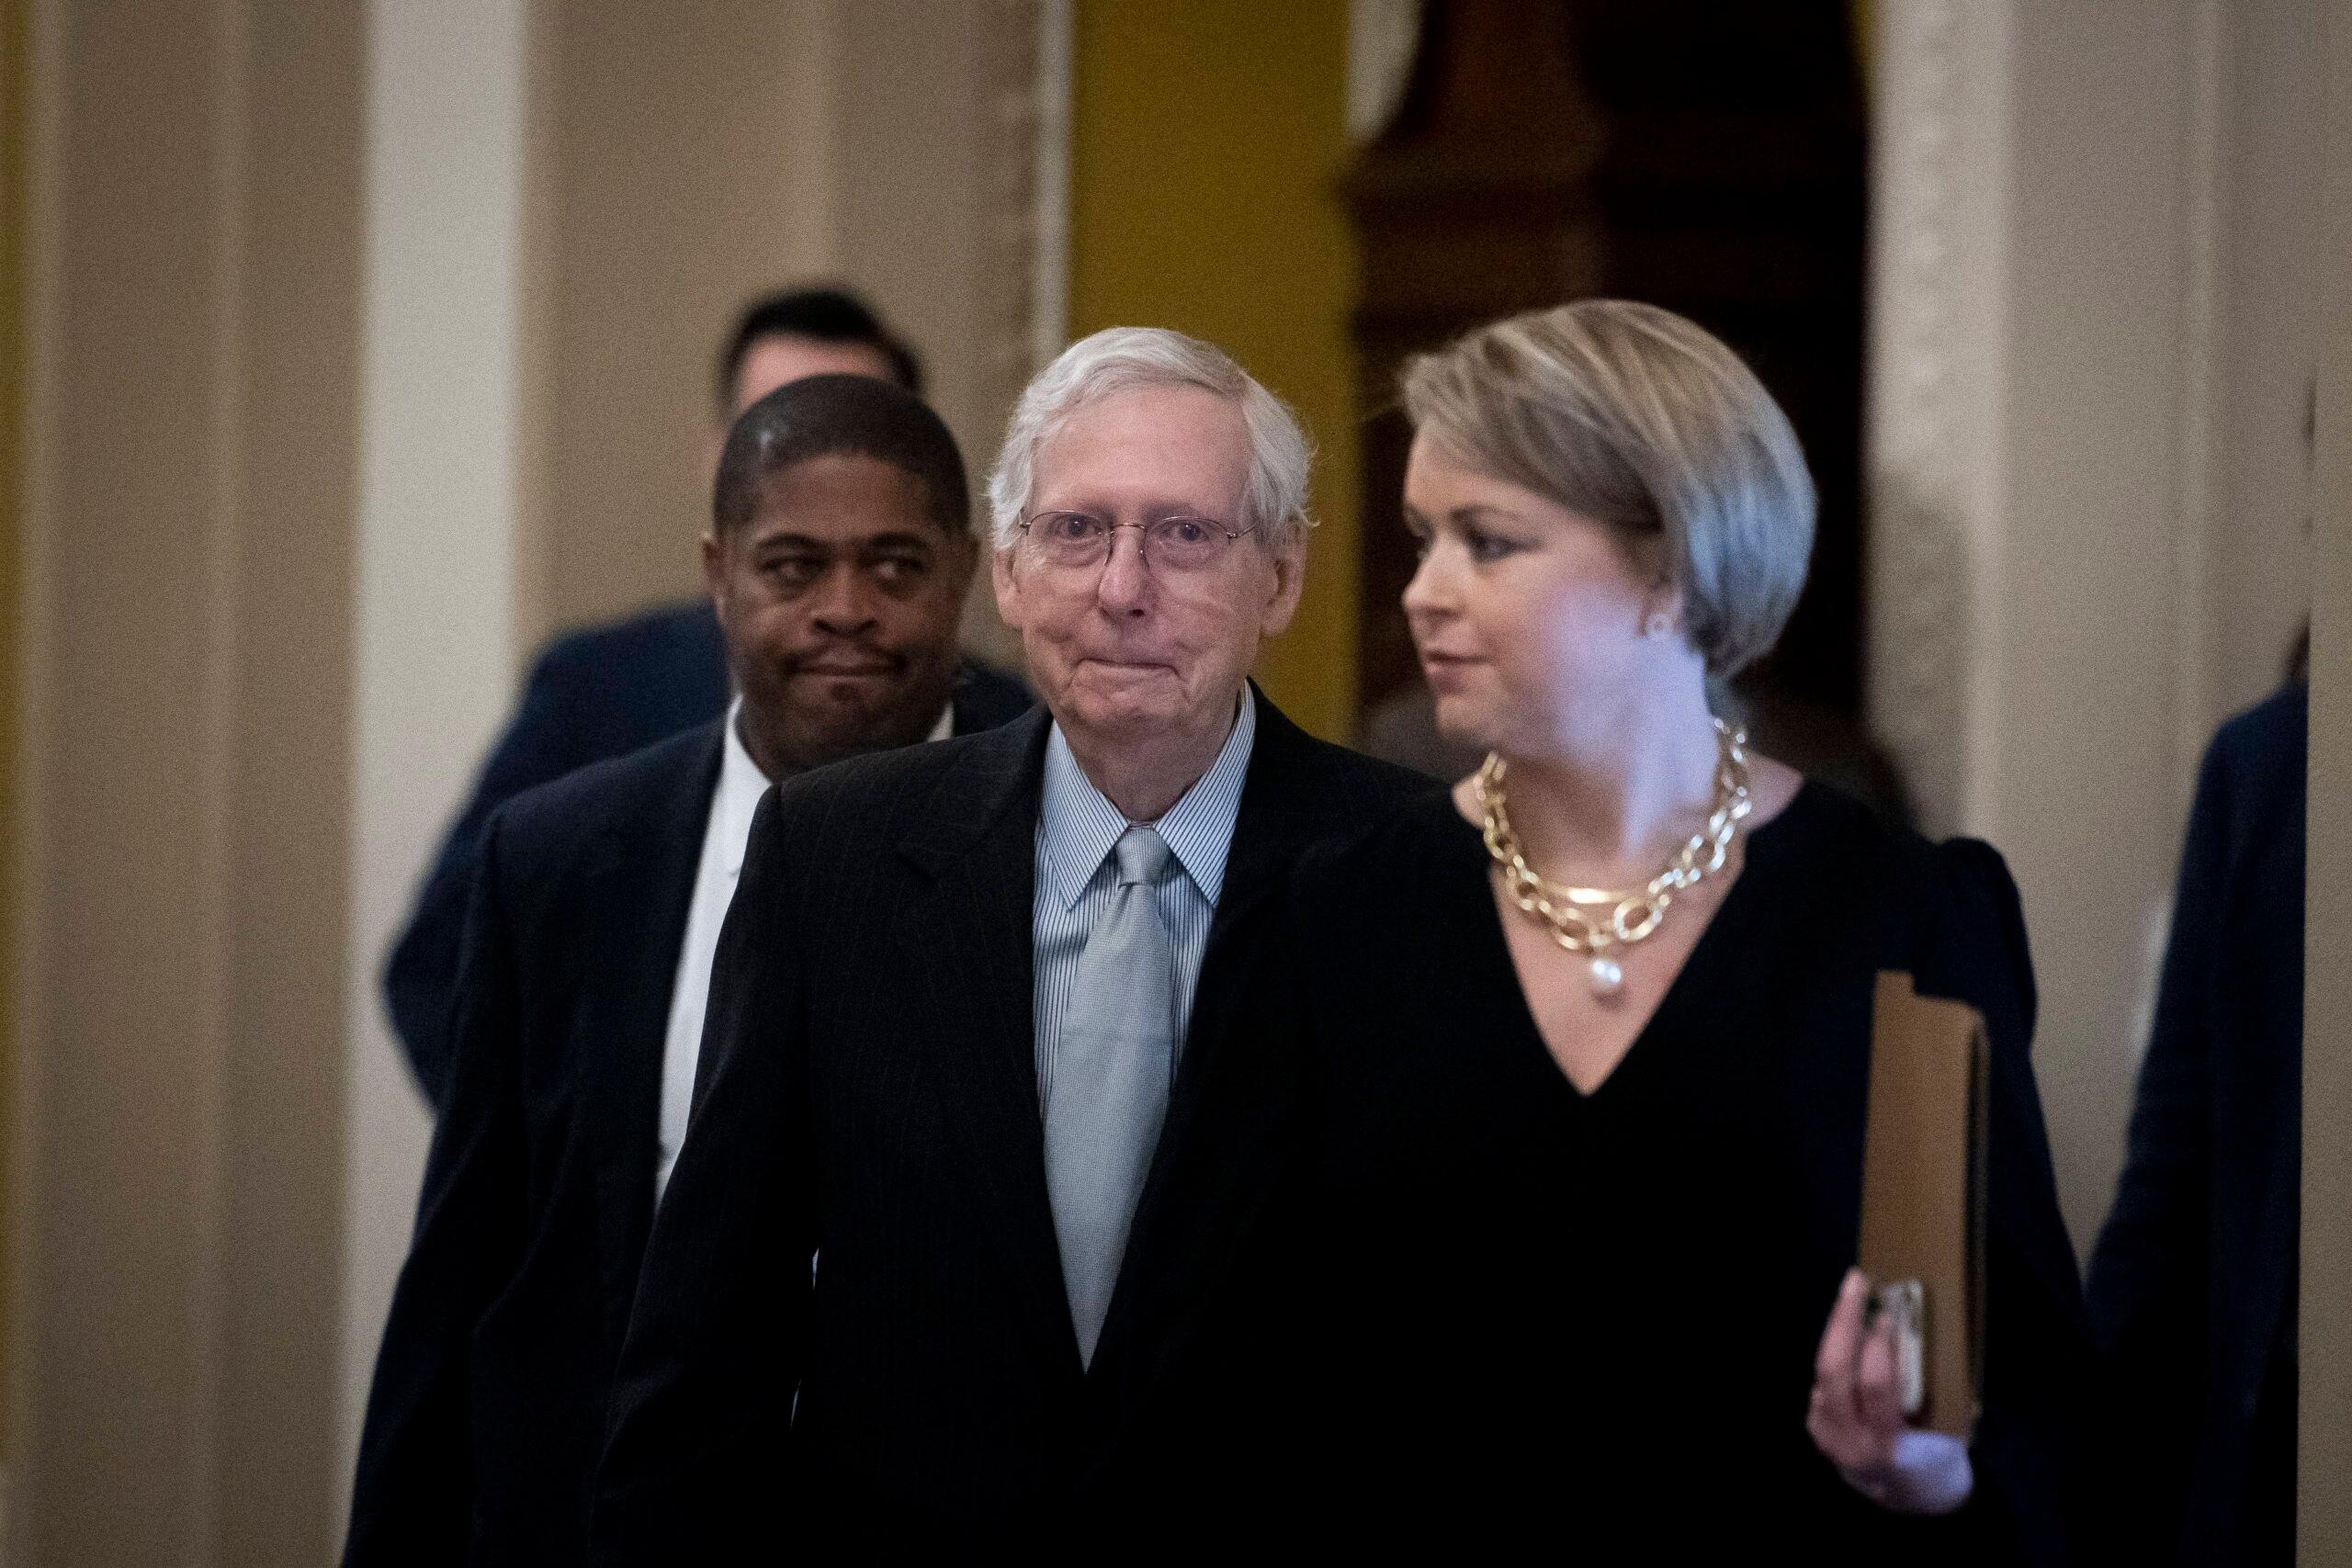
[[[1037,0],[532,9],[524,637],[699,592],[710,357],[764,289],[866,292],[978,480],[1030,371]],[[1009,656],[985,574],[967,637]]]

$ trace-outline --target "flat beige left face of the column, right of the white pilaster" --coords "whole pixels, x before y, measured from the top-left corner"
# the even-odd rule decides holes
[[[741,301],[835,266],[835,0],[543,0],[524,475],[541,635],[699,592],[710,355]]]

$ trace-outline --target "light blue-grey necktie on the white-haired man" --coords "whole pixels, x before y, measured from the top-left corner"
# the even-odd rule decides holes
[[[1176,947],[1152,896],[1176,860],[1150,827],[1129,827],[1112,856],[1120,882],[1077,954],[1044,1105],[1061,1284],[1089,1366],[1176,1063]]]

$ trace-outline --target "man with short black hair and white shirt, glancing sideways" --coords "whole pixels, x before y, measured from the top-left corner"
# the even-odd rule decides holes
[[[637,1258],[769,780],[1028,708],[960,665],[955,440],[870,376],[746,409],[703,538],[741,696],[499,806],[473,856],[454,1079],[393,1295],[343,1561],[576,1563]]]

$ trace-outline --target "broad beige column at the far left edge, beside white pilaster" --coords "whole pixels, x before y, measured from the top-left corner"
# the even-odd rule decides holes
[[[332,1554],[360,47],[33,7],[24,1563]]]

